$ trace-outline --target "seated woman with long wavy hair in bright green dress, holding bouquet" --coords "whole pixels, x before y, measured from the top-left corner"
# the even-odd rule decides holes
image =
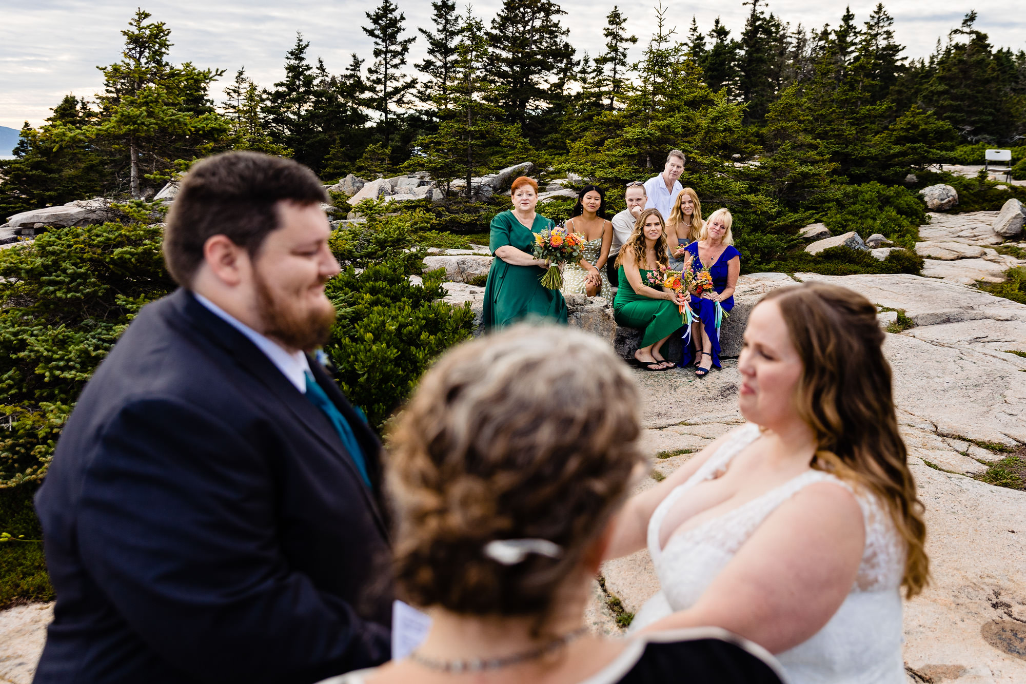
[[[660,265],[669,266],[666,224],[659,210],[648,208],[638,217],[634,232],[617,256],[620,287],[613,300],[617,324],[643,331],[634,364],[648,371],[669,371],[675,366],[660,349],[684,325],[679,308],[684,298],[645,284],[648,273]]]

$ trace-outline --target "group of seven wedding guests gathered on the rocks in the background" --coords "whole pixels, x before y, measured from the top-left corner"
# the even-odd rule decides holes
[[[513,181],[513,208],[491,222],[489,249],[499,261],[485,287],[485,327],[528,315],[566,322],[563,294],[603,296],[614,302],[617,324],[643,331],[634,352],[640,368],[668,371],[694,359],[699,377],[718,368],[719,329],[734,307],[741,254],[734,248],[729,210],[703,221],[699,196],[680,185],[684,163],[684,153],[671,150],[661,174],[628,183],[627,208],[611,220],[605,192],[585,185],[560,227],[535,212],[536,181]],[[561,269],[561,287],[540,280],[531,268],[537,266],[554,277]],[[694,344],[684,345],[679,362],[668,360],[661,350],[679,330]]]

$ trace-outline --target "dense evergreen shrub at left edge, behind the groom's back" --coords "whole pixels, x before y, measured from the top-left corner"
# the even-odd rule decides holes
[[[0,487],[40,480],[78,393],[147,302],[174,288],[151,206],[0,252]]]

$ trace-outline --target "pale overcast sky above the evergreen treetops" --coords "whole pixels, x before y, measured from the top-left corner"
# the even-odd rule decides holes
[[[101,85],[96,65],[119,59],[120,31],[141,0],[0,0],[0,125],[19,128],[26,120],[39,125],[61,99],[74,92],[91,97]],[[614,4],[630,17],[628,28],[639,38],[631,51],[637,59],[652,34],[653,5],[657,0],[561,0],[567,14],[563,26],[578,51],[592,55],[602,49],[605,14]],[[300,31],[310,41],[312,58],[322,56],[332,72],[342,72],[349,53],[370,56],[370,40],[360,30],[367,24],[364,11],[379,0],[176,0],[145,3],[144,8],[171,29],[171,60],[191,61],[198,67],[227,70],[226,79],[240,66],[261,85],[282,75],[285,51]],[[396,0],[406,15],[407,33],[431,24],[429,0]],[[877,0],[851,3],[861,25]],[[461,3],[462,8],[463,3]],[[477,0],[474,11],[490,21],[502,0]],[[671,26],[686,35],[692,15],[708,31],[718,15],[737,37],[744,27],[747,7],[741,0],[700,4],[664,0]],[[768,11],[793,26],[834,26],[841,4],[822,0],[771,0]],[[890,0],[884,6],[895,17],[895,33],[907,46],[905,54],[922,56],[933,51],[938,37],[946,40],[970,9],[979,13],[977,27],[997,46],[1026,49],[1026,0]],[[410,67],[424,51],[419,38],[410,49]],[[215,85],[215,98],[226,79]]]

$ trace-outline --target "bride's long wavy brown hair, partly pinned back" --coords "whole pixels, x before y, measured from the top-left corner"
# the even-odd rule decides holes
[[[762,298],[776,302],[803,371],[795,406],[816,432],[812,466],[868,489],[907,546],[902,585],[911,598],[930,581],[923,506],[898,432],[891,365],[876,307],[845,288],[805,282]]]

